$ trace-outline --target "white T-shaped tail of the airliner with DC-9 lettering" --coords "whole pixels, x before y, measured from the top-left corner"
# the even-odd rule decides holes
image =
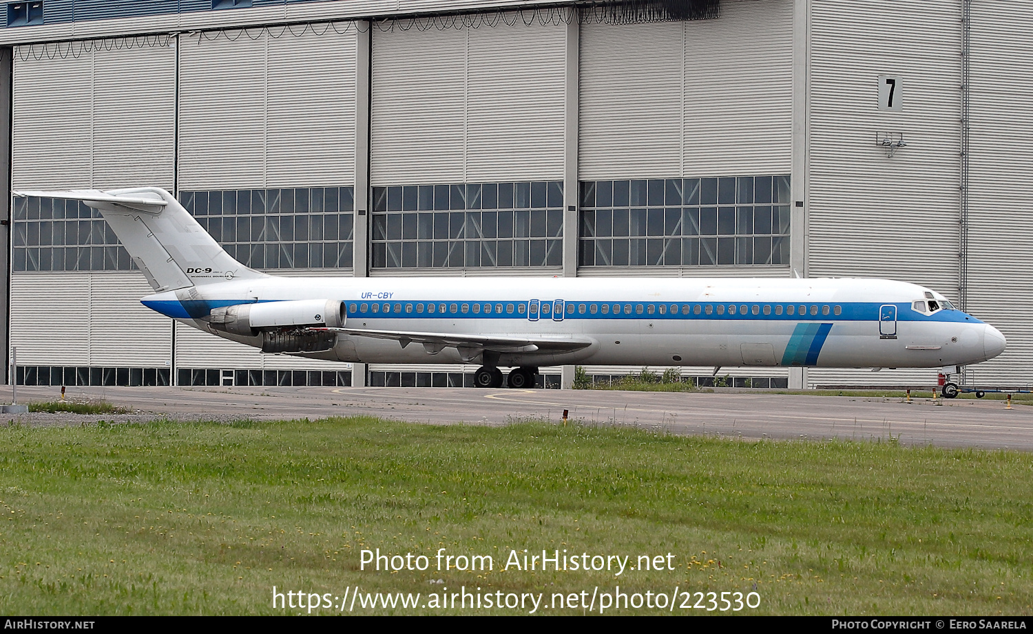
[[[171,194],[159,188],[13,194],[82,200],[99,210],[156,293],[267,276],[230,258]]]

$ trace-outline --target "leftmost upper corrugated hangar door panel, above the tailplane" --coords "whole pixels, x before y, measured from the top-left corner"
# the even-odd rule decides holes
[[[175,96],[175,42],[17,46],[14,188],[171,188]]]

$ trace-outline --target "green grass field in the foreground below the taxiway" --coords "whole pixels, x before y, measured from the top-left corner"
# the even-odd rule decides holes
[[[463,586],[544,593],[547,605],[619,585],[755,589],[759,607],[740,613],[1033,611],[1033,456],[1015,452],[372,419],[5,427],[0,514],[7,614],[307,611],[274,608],[274,586],[420,593],[419,604]],[[491,555],[494,569],[438,571],[442,547]],[[361,570],[367,548],[431,567]],[[675,569],[502,570],[524,548],[632,566],[671,553]],[[682,602],[674,613],[707,613]]]

